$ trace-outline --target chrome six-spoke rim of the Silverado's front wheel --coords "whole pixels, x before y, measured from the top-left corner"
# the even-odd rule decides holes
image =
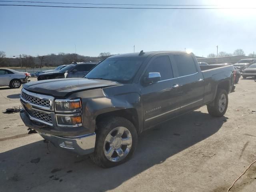
[[[121,161],[132,148],[132,134],[125,127],[116,127],[106,136],[103,148],[108,160],[112,162]]]

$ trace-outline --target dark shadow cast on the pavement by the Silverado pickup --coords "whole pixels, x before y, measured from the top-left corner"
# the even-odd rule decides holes
[[[105,192],[212,136],[226,119],[194,111],[164,122],[139,136],[130,161],[109,169],[94,165],[88,156],[77,157],[54,146],[47,149],[42,140],[27,144],[0,154],[1,190]]]

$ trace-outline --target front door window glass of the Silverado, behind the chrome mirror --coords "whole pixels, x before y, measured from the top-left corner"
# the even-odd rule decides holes
[[[160,56],[155,58],[148,66],[146,74],[150,72],[159,72],[161,80],[173,78],[172,66],[169,56]]]

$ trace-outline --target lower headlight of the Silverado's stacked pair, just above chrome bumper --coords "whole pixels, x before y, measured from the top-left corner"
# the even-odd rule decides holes
[[[82,116],[62,116],[56,115],[57,123],[59,126],[75,126],[82,124]]]

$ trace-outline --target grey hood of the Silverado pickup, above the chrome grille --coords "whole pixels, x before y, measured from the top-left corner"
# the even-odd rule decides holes
[[[68,78],[53,79],[30,82],[23,85],[23,88],[35,93],[51,95],[62,98],[72,92],[78,92],[88,89],[103,88],[108,86],[120,85],[117,82],[109,80],[86,79],[86,78]]]

